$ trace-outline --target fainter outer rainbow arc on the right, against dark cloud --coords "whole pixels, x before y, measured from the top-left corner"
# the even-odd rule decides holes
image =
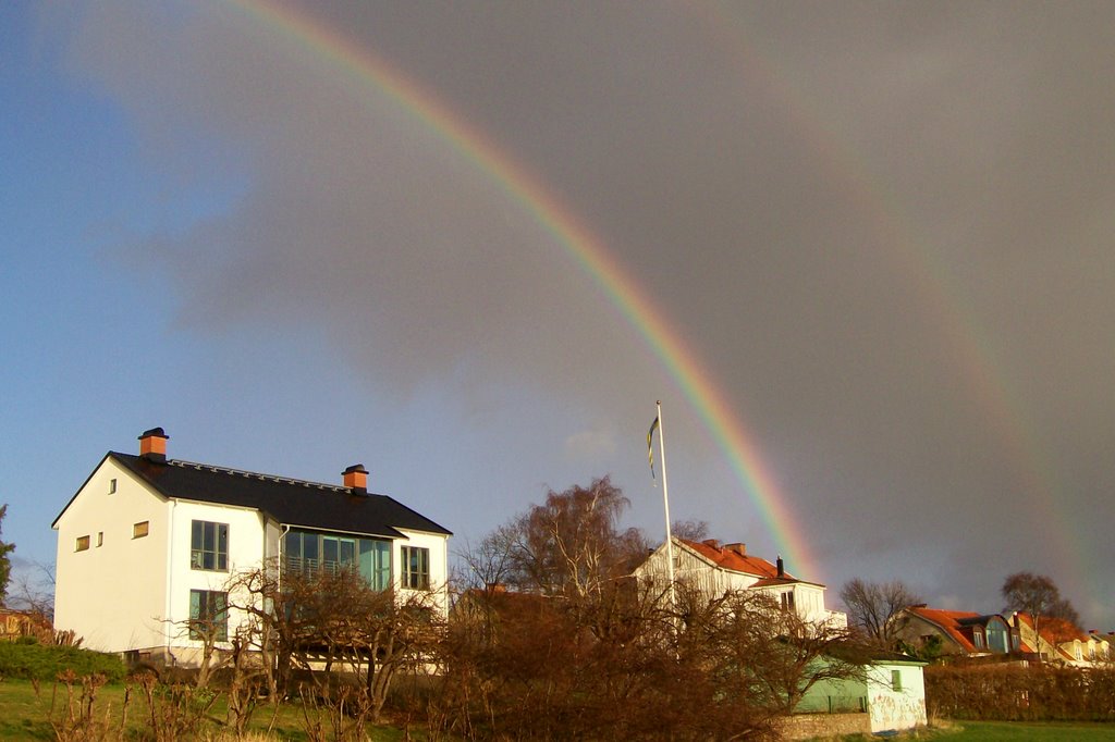
[[[912,218],[891,189],[873,176],[869,158],[855,150],[850,137],[837,134],[838,117],[820,109],[815,96],[795,89],[785,75],[772,67],[768,59],[773,55],[764,53],[764,40],[748,31],[738,6],[714,2],[698,8],[705,11],[702,20],[709,38],[736,59],[736,69],[763,89],[766,105],[779,107],[780,118],[796,140],[812,148],[823,175],[840,185],[856,213],[870,223],[878,242],[886,246],[881,258],[900,276],[912,302],[932,319],[948,361],[979,410],[979,420],[1010,461],[1017,492],[1029,505],[1012,507],[1012,511],[1019,516],[1025,511],[1035,531],[1054,541],[1056,569],[1064,583],[1072,584],[1078,595],[1094,592],[1079,577],[1080,565],[1087,563],[1086,547],[1061,505],[1064,492],[1056,467],[1037,443],[1032,432],[1037,426],[1020,401],[1022,394],[1010,384],[1009,370],[996,352],[993,339],[980,325],[976,312],[968,309],[961,292],[951,287],[956,284],[950,277],[952,266],[940,257],[940,251],[918,238]],[[823,126],[823,121],[834,124]],[[1002,492],[971,494],[973,498],[988,495],[1009,499]]]

